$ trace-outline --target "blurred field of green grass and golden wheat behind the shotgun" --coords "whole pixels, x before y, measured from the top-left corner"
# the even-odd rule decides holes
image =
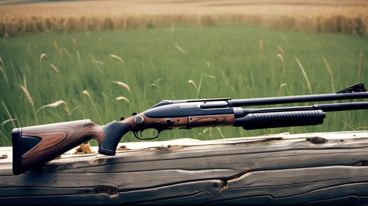
[[[105,125],[162,100],[368,85],[366,0],[0,0],[0,37],[0,146],[11,146],[13,128]],[[367,130],[367,114],[327,113],[309,127],[174,129],[152,141]],[[135,141],[131,132],[121,140]]]

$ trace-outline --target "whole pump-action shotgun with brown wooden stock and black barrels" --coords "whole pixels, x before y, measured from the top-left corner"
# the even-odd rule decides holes
[[[268,97],[253,99],[163,100],[141,113],[121,117],[104,126],[91,120],[59,122],[14,128],[13,173],[19,175],[91,139],[99,143],[98,152],[114,156],[121,138],[133,132],[138,139],[155,139],[169,129],[208,127],[243,127],[250,129],[320,125],[329,111],[368,109],[368,102],[318,104],[301,107],[243,109],[244,106],[319,102],[368,98],[363,84],[356,84],[333,94]],[[143,138],[142,131],[156,129],[158,134]],[[138,135],[139,132],[139,135]]]

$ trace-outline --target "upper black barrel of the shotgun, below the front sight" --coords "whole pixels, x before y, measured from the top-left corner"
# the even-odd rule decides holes
[[[233,107],[244,107],[244,106],[269,105],[269,104],[322,102],[322,101],[365,99],[365,98],[368,98],[368,92],[234,99],[231,100],[231,102],[233,103]]]

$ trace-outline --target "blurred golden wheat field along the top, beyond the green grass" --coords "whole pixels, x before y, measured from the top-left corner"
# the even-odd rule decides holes
[[[205,27],[229,22],[368,36],[368,1],[95,0],[33,4],[0,1],[0,36],[3,38],[24,33],[142,29],[162,25]]]

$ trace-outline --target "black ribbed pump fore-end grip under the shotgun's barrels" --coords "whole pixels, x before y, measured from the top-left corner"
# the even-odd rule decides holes
[[[283,111],[247,114],[240,118],[240,122],[244,129],[251,130],[319,125],[325,117],[326,114],[322,110]]]

